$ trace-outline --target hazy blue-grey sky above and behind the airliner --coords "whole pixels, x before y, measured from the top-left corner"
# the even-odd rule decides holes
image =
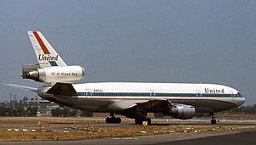
[[[26,31],[38,30],[85,82],[217,83],[256,103],[256,1],[1,1],[1,83],[37,63]],[[35,93],[0,87],[19,98]]]

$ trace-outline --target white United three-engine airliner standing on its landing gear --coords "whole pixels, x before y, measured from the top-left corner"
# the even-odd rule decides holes
[[[38,88],[9,84],[41,98],[74,109],[109,113],[106,123],[120,123],[115,114],[151,124],[148,113],[162,113],[180,120],[208,114],[216,124],[216,114],[234,109],[245,98],[230,86],[202,83],[96,82],[81,83],[84,68],[67,65],[40,31],[28,31],[38,64],[22,66],[23,79],[43,82]]]

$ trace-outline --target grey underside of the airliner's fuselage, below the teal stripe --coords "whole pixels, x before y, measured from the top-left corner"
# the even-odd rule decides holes
[[[111,100],[111,99],[91,99],[91,98],[78,98],[78,97],[54,97],[55,103],[60,103],[73,107],[75,109],[88,110],[93,112],[122,112],[125,109],[129,109],[137,104],[137,102],[143,102],[143,100]],[[212,113],[218,111],[224,111],[227,109],[236,108],[236,103],[232,103],[227,99],[168,99],[172,103],[180,103],[192,105],[195,107],[196,113]],[[147,102],[147,100],[144,100]],[[156,112],[157,110],[151,110]],[[150,112],[151,112],[150,111]]]

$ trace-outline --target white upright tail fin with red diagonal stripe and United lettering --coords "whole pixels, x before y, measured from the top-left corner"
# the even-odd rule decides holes
[[[40,31],[27,31],[41,68],[67,66]]]

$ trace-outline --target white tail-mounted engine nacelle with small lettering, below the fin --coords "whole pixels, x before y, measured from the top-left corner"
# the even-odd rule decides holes
[[[76,83],[84,79],[84,68],[78,65],[55,66],[36,69],[23,74],[24,79],[32,79],[44,83],[68,82]]]

